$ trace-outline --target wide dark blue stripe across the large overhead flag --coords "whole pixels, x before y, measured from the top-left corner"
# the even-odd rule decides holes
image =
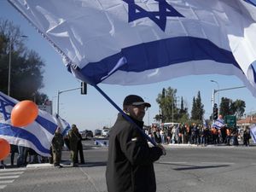
[[[125,57],[127,63],[118,70],[125,72],[143,72],[180,62],[201,60],[228,63],[241,70],[231,51],[219,48],[208,39],[177,37],[124,48],[118,54],[106,57],[102,61],[90,62],[80,69],[80,72],[88,77],[90,82],[98,84],[122,57]],[[140,65],[141,63],[144,65]]]

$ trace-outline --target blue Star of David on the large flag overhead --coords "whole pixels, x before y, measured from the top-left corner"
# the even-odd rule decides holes
[[[157,11],[147,11],[139,7],[134,0],[123,0],[128,4],[128,14],[129,22],[138,20],[144,17],[148,17],[150,20],[153,20],[156,25],[160,27],[162,31],[166,30],[166,19],[167,17],[184,17],[177,12],[172,5],[168,4],[166,0],[154,0],[159,3],[159,12]],[[158,18],[159,17],[159,18]]]

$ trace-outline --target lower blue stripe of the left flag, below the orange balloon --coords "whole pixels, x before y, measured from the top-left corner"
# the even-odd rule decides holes
[[[27,141],[33,143],[41,152],[49,154],[49,148],[44,148],[42,143],[40,143],[38,140],[38,137],[34,136],[31,132],[26,131],[25,129],[0,123],[0,135],[26,139]]]

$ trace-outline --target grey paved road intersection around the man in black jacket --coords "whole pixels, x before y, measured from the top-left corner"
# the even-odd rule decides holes
[[[167,155],[154,164],[159,192],[254,192],[256,147],[167,146]],[[86,164],[0,170],[0,191],[107,191],[108,148],[84,149]],[[4,183],[5,181],[9,181]]]

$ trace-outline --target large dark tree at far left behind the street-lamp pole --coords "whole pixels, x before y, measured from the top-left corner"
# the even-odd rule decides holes
[[[8,93],[11,53],[10,96],[20,101],[33,100],[36,94],[41,95],[38,90],[44,87],[44,61],[38,53],[25,48],[24,39],[21,37],[22,33],[18,26],[14,26],[8,20],[0,20],[0,90]],[[41,99],[44,95],[38,97],[37,101],[43,102]]]

